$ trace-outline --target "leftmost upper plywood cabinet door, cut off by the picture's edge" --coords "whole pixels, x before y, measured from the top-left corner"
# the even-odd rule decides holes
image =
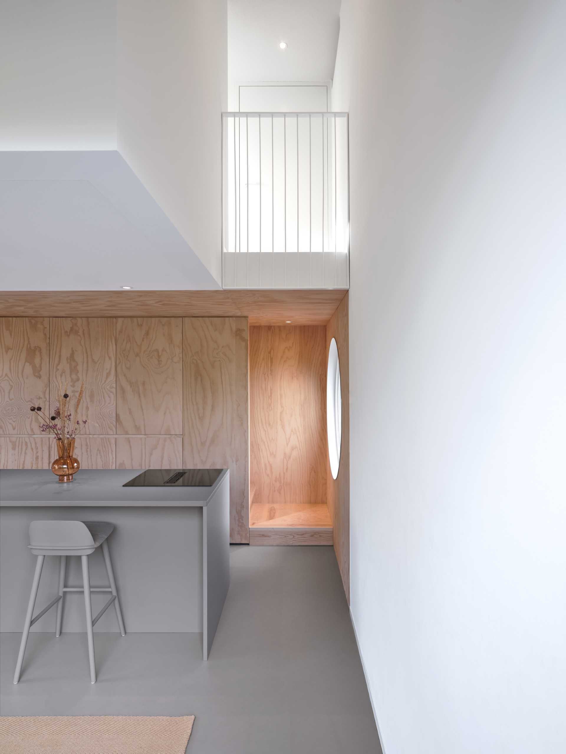
[[[40,434],[29,407],[48,403],[49,320],[1,317],[0,434]]]

